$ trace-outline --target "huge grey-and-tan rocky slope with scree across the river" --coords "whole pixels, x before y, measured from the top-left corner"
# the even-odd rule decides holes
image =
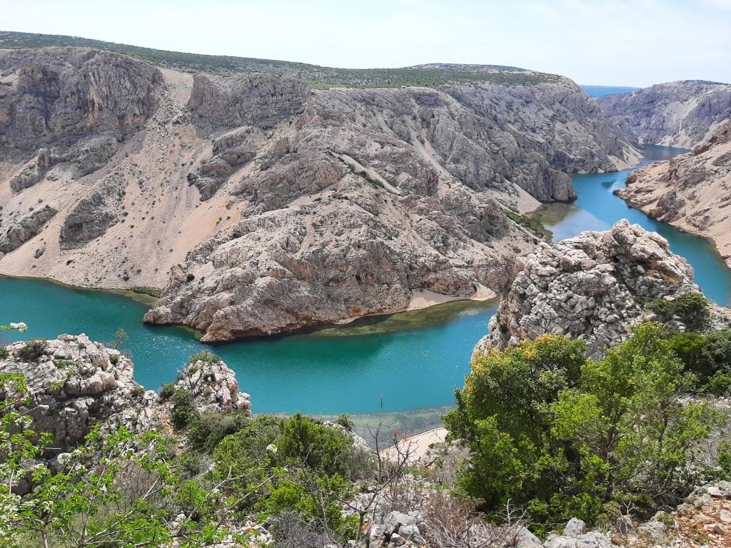
[[[58,211],[26,221],[0,272],[164,287],[147,320],[206,340],[495,294],[537,243],[504,211],[572,199],[565,172],[637,151],[570,80],[445,70],[472,80],[311,89],[0,51],[0,228]]]

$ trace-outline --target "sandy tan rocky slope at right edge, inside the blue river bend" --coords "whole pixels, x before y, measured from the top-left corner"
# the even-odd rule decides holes
[[[653,218],[711,238],[731,267],[731,121],[693,151],[632,172],[617,194]]]

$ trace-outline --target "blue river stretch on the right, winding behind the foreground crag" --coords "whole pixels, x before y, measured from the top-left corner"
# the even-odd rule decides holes
[[[645,145],[645,160],[640,166],[683,152],[686,151],[682,148]],[[688,259],[693,266],[696,283],[708,297],[720,305],[731,305],[731,270],[710,240],[655,221],[612,194],[614,190],[624,188],[624,181],[631,171],[574,175],[572,179],[578,194],[576,201],[568,205],[546,205],[537,217],[553,232],[554,240],[575,236],[583,230],[606,230],[620,218],[654,230],[667,238],[673,253]]]

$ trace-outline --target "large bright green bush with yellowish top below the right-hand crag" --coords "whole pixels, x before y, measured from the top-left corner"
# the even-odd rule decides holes
[[[612,502],[646,514],[674,506],[712,475],[695,457],[721,423],[707,404],[681,400],[694,382],[656,324],[600,362],[556,336],[490,351],[445,418],[469,448],[460,488],[493,515],[508,501],[526,506],[544,531],[574,516],[596,524]]]

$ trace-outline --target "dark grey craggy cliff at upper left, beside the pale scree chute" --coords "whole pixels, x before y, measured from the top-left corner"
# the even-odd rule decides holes
[[[80,47],[0,53],[0,144],[34,150],[88,134],[127,134],[156,109],[159,69]]]

